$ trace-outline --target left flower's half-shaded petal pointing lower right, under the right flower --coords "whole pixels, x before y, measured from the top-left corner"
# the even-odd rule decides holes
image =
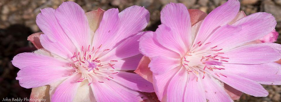
[[[152,83],[140,77],[135,73],[120,71],[116,75],[112,75],[114,81],[140,92],[154,92]]]

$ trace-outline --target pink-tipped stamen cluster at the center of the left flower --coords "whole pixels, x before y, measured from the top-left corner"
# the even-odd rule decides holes
[[[90,45],[88,45],[88,49],[84,50],[84,46],[81,48],[81,52],[74,52],[73,56],[70,57],[71,63],[69,66],[73,68],[75,72],[70,72],[68,75],[74,75],[77,73],[81,73],[82,76],[76,82],[83,82],[84,80],[88,79],[89,84],[92,84],[93,77],[104,77],[107,80],[114,79],[110,74],[116,74],[114,62],[117,60],[110,60],[110,61],[100,61],[98,56],[99,53],[109,51],[110,49],[101,50],[102,45],[100,45],[97,49],[92,47],[90,49]],[[108,67],[109,66],[109,67]],[[98,78],[96,78],[98,79]],[[97,82],[104,83],[103,81],[97,80]]]

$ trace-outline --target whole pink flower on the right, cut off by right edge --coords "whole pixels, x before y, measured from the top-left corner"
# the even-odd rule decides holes
[[[275,18],[268,13],[241,17],[239,6],[238,0],[229,0],[193,26],[183,4],[163,8],[159,28],[140,38],[153,78],[144,75],[160,101],[231,102],[225,86],[267,96],[260,84],[281,84],[281,65],[274,62],[281,57],[281,45],[249,44],[269,34]]]

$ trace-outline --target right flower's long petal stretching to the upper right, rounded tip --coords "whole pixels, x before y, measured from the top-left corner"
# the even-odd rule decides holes
[[[225,39],[227,43],[221,45],[225,49],[235,48],[262,38],[275,28],[276,20],[271,14],[260,12],[243,17],[232,25],[241,26],[242,30],[233,37]]]

